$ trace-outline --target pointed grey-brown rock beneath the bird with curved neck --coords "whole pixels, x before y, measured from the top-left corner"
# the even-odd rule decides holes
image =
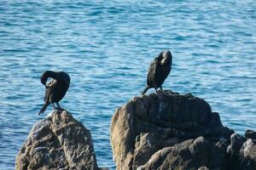
[[[67,111],[37,122],[20,149],[16,169],[98,169],[90,131]]]

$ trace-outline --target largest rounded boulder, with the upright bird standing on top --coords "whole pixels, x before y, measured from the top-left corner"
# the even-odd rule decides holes
[[[194,156],[190,163],[189,157],[180,156],[183,159],[180,166],[198,169],[224,166],[220,157],[224,159],[232,133],[234,131],[222,125],[218,113],[212,112],[204,99],[192,94],[158,91],[158,94],[135,97],[115,111],[110,141],[117,169],[147,169],[152,165],[150,162],[154,162],[153,167],[165,169],[170,166],[168,162],[174,161],[170,156],[179,157],[177,154]],[[203,146],[207,150],[200,148]],[[207,156],[208,152],[212,158]],[[201,156],[212,160],[196,164],[195,160]]]

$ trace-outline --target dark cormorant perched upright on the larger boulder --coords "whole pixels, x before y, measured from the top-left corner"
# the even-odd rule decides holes
[[[162,88],[162,83],[165,82],[170,71],[172,70],[172,54],[170,51],[161,52],[158,57],[154,58],[148,68],[147,87],[143,89],[142,94],[145,94],[149,88]]]

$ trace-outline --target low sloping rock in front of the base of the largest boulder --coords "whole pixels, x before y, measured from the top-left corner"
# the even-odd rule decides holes
[[[138,169],[224,169],[226,156],[224,148],[198,137],[159,150]]]

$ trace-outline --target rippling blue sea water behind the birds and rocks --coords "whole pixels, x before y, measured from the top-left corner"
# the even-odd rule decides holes
[[[173,66],[163,88],[206,99],[237,133],[256,130],[255,9],[253,0],[0,0],[0,169],[14,169],[51,111],[38,116],[45,70],[70,74],[61,105],[90,128],[99,166],[114,169],[111,116],[144,88],[164,49]]]

